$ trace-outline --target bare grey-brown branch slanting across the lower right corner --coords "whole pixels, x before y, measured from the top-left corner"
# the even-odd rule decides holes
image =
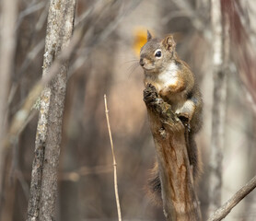
[[[233,195],[226,204],[223,204],[219,209],[216,210],[215,214],[212,215],[208,221],[219,221],[225,218],[230,211],[239,202],[248,195],[256,187],[256,176],[246,183],[235,195]]]

